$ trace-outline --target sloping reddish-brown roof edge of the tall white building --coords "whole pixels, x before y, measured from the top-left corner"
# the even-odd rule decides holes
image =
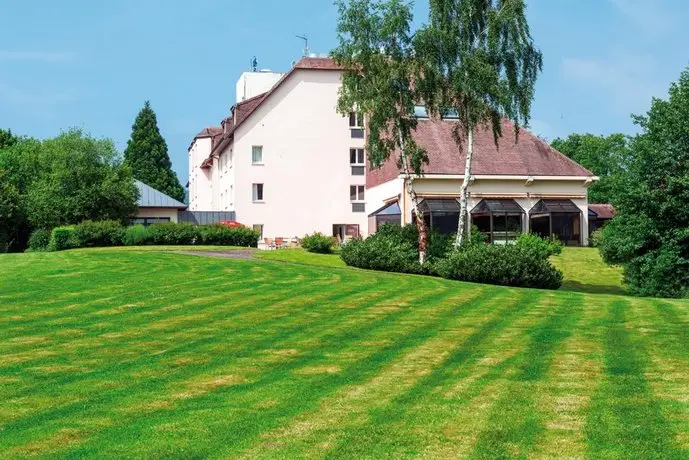
[[[222,151],[229,145],[237,128],[239,128],[242,123],[244,123],[251,116],[251,114],[254,113],[256,109],[258,109],[265,102],[265,100],[270,97],[271,94],[282,86],[282,84],[287,81],[287,79],[290,78],[296,70],[342,70],[342,67],[337,65],[331,58],[304,57],[300,59],[299,62],[297,62],[289,72],[283,75],[282,78],[280,78],[280,80],[278,80],[278,82],[275,83],[270,90],[263,94],[254,96],[251,99],[238,102],[234,105],[232,108],[232,118],[234,121],[228,120],[228,123],[232,123],[232,125],[228,127],[219,142],[213,143],[211,156],[216,151]]]

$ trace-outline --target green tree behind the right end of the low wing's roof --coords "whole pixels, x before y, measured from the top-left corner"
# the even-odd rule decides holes
[[[629,169],[629,138],[624,134],[571,134],[552,146],[600,177],[589,187],[589,202],[615,203],[615,193]]]

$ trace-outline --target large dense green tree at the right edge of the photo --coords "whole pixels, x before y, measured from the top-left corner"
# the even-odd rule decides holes
[[[689,69],[635,116],[641,134],[616,197],[617,215],[603,230],[600,250],[624,265],[625,281],[640,295],[689,295]]]

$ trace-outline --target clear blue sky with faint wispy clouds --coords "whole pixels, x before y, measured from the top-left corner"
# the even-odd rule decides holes
[[[416,1],[425,21],[427,1]],[[145,100],[186,183],[194,134],[227,116],[256,55],[287,70],[307,33],[335,45],[330,0],[0,0],[0,127],[45,138],[72,126],[123,150]],[[633,133],[631,113],[664,97],[689,64],[685,0],[530,0],[544,54],[532,130]]]

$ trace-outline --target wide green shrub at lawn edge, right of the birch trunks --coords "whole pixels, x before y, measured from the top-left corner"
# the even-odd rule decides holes
[[[447,279],[541,289],[558,289],[562,273],[555,269],[542,250],[525,244],[476,244],[453,252],[435,264]]]

